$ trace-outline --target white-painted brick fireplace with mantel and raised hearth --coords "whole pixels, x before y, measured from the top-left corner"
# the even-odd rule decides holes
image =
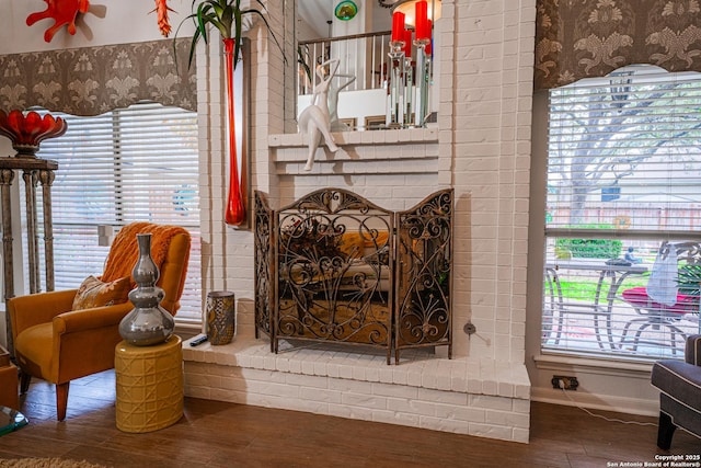
[[[284,2],[266,3],[271,21],[281,24]],[[268,193],[275,207],[335,186],[393,210],[453,187],[453,358],[421,350],[403,352],[399,365],[388,366],[381,352],[307,346],[273,354],[267,338],[253,338],[254,241],[250,230],[222,221],[225,113],[221,77],[211,71],[220,58],[211,50],[197,57],[200,171],[206,174],[200,186],[203,294],[235,293],[237,336],[220,346],[184,344],[187,396],[528,442],[526,276],[536,0],[443,3],[437,124],[340,134],[342,149],[335,155],[320,149],[311,172],[301,170],[303,139],[285,123],[283,96],[289,83],[281,59],[274,47],[257,49],[253,41],[249,182]],[[463,332],[467,323],[476,327],[475,334]]]

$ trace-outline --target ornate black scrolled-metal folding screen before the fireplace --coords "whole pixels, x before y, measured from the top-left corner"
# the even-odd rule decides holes
[[[452,190],[406,212],[342,189],[274,210],[255,193],[255,333],[394,351],[451,339]]]

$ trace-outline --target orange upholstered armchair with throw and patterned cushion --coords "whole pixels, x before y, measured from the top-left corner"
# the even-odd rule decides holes
[[[32,376],[56,384],[57,419],[66,419],[70,380],[114,367],[119,322],[134,306],[128,293],[136,284],[131,270],[138,259],[137,233],[151,233],[151,256],[165,292],[161,306],[175,315],[183,293],[189,233],[176,226],[134,222],[115,236],[105,271],[89,276],[79,289],[14,297],[8,312],[21,390]]]

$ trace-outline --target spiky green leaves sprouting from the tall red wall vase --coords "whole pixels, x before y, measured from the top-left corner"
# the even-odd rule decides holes
[[[263,4],[261,0],[255,0],[255,2],[261,5],[263,11],[267,11],[265,4]],[[232,38],[234,41],[233,66],[235,67],[241,54],[243,19],[248,15],[257,15],[263,20],[267,31],[271,33],[271,37],[273,37],[277,47],[283,52],[283,47],[273,33],[263,11],[254,8],[242,10],[241,0],[193,0],[191,10],[193,12],[183,19],[175,32],[175,37],[177,37],[177,32],[183,23],[188,20],[194,21],[195,34],[193,34],[193,41],[189,46],[188,66],[192,66],[195,47],[197,46],[199,38],[202,37],[205,41],[205,44],[207,44],[207,35],[209,34],[208,30],[210,27],[216,27],[222,39]]]

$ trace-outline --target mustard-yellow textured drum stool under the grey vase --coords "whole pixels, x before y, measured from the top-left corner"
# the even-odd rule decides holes
[[[182,340],[135,346],[122,341],[115,349],[117,429],[151,432],[173,425],[183,415]]]

